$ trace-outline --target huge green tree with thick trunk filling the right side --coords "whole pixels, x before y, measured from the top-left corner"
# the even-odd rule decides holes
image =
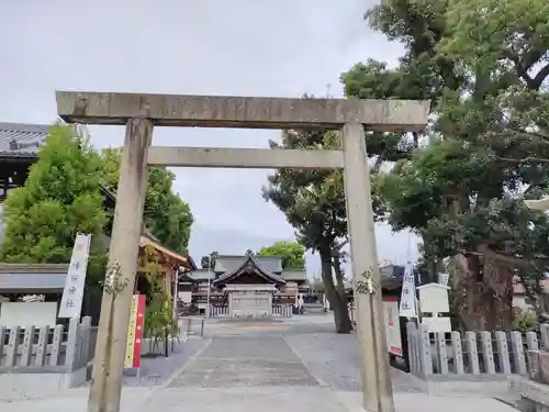
[[[366,14],[405,46],[401,88],[384,97],[429,99],[435,114],[425,146],[378,188],[393,227],[423,237],[432,274],[452,259],[468,330],[512,327],[514,276],[535,297],[549,261],[549,222],[522,202],[549,187],[549,5],[527,3],[390,0]],[[362,71],[346,88],[369,85]]]

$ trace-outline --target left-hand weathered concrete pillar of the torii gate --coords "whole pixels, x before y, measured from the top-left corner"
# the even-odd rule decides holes
[[[152,135],[153,123],[148,119],[132,119],[127,122],[105,279],[108,285],[112,285],[113,277],[117,276],[119,282],[125,282],[125,286],[114,293],[109,288],[103,292],[88,412],[120,410]]]

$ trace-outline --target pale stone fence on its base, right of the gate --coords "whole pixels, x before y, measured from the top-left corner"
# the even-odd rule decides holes
[[[406,324],[411,374],[428,393],[481,393],[508,397],[509,377],[525,378],[537,367],[535,356],[549,348],[549,324],[536,332],[429,333]],[[404,337],[403,337],[404,338]]]

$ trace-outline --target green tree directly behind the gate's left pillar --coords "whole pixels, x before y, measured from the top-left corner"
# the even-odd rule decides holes
[[[113,191],[119,183],[120,149],[102,151],[103,181]],[[173,191],[175,175],[165,167],[150,167],[145,198],[145,225],[166,247],[187,253],[193,216],[189,204]]]

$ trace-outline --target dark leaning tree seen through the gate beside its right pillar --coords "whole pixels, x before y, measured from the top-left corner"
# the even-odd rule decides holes
[[[371,73],[372,79],[379,73]],[[374,81],[372,81],[374,83]],[[361,97],[368,94],[362,90]],[[309,98],[309,97],[305,97]],[[413,146],[402,134],[367,133],[369,154],[374,172],[385,158],[400,158]],[[281,143],[271,142],[271,149],[339,149],[339,135],[324,131],[285,131]],[[382,203],[376,194],[372,182],[373,209],[383,215]],[[325,293],[334,310],[336,332],[349,333],[352,330],[347,311],[347,297],[344,287],[340,250],[347,237],[347,218],[343,174],[337,170],[290,170],[280,169],[269,176],[268,185],[262,188],[264,198],[281,210],[287,221],[294,227],[298,242],[305,248],[318,253],[321,276]],[[336,282],[333,278],[335,269]]]

